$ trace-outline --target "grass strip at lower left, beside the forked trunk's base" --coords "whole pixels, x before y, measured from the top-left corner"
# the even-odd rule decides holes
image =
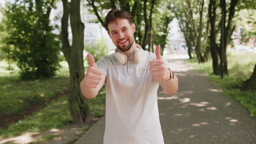
[[[51,101],[43,110],[35,112],[31,116],[20,120],[18,123],[9,125],[8,129],[0,130],[2,136],[15,136],[21,133],[38,132],[41,130],[49,130],[60,128],[71,122],[71,115],[67,104],[68,97],[61,97]]]

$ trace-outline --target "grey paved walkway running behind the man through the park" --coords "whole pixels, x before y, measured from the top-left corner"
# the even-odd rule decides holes
[[[179,78],[179,91],[158,92],[165,144],[256,143],[256,118],[182,60],[169,62]],[[75,144],[102,144],[104,121],[101,118]]]

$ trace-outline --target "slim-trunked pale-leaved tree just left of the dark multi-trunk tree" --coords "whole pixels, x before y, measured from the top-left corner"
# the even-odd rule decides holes
[[[206,35],[208,33],[208,21],[205,14],[205,1],[172,1],[172,5],[176,6],[174,13],[179,21],[181,31],[184,34],[189,57],[192,57],[191,46],[195,46],[198,62],[205,62],[209,52],[208,47],[202,47],[202,43],[205,42]]]

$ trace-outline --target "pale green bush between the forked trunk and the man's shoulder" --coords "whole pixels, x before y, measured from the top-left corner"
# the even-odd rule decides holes
[[[95,62],[97,62],[102,56],[106,56],[109,53],[105,41],[105,39],[99,39],[94,44],[85,45],[85,50],[91,53]]]

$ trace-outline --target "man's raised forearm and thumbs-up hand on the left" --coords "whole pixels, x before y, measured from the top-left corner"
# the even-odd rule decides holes
[[[90,67],[85,74],[84,79],[80,82],[81,92],[85,98],[92,99],[98,94],[106,80],[106,75],[97,68],[94,57],[90,53],[87,55]]]

